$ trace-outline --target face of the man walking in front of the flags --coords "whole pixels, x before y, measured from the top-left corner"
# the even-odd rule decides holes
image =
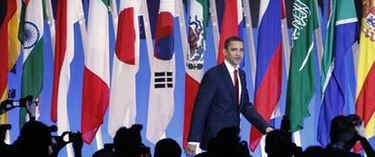
[[[240,65],[243,58],[243,43],[241,41],[230,42],[228,48],[224,49],[224,55],[231,65]]]

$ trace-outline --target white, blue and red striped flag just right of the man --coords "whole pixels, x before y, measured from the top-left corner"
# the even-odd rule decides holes
[[[259,14],[254,107],[269,122],[277,107],[282,84],[281,1],[263,0]],[[258,129],[251,128],[249,141],[252,151],[262,136]]]

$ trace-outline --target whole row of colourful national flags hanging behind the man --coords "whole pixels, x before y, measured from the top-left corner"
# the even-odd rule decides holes
[[[375,101],[372,96],[375,93],[375,55],[372,53],[375,51],[374,0],[329,0],[319,1],[320,5],[314,0],[191,0],[187,3],[120,0],[118,14],[117,4],[115,0],[91,0],[86,24],[81,1],[0,1],[0,63],[3,65],[0,67],[0,100],[7,98],[7,74],[20,52],[23,52],[21,97],[38,97],[43,89],[42,43],[46,18],[54,44],[51,119],[57,124],[60,134],[70,130],[67,99],[74,40],[77,40],[73,26],[79,22],[85,54],[81,118],[83,138],[86,143],[92,142],[107,109],[108,132],[114,136],[119,127],[135,123],[135,76],[139,71],[140,40],[144,36],[151,69],[146,136],[156,143],[166,136],[165,131],[174,112],[176,63],[173,33],[174,28],[179,27],[185,59],[185,145],[194,99],[204,74],[204,56],[208,53],[206,28],[209,24],[213,27],[213,47],[220,64],[224,60],[222,50],[225,39],[238,36],[239,27],[246,27],[250,30],[247,32],[250,42],[245,44],[249,45],[252,56],[254,105],[265,120],[270,121],[277,115],[282,84],[286,82],[282,79],[287,78],[285,112],[291,121],[291,131],[301,130],[303,120],[309,116],[308,105],[317,90],[314,79],[320,77],[322,102],[317,138],[326,145],[330,120],[343,114],[345,105],[354,105],[346,98],[351,89],[347,76],[356,76],[355,113],[364,119],[366,136],[370,138],[375,134]],[[188,16],[185,17],[185,14]],[[114,19],[116,36],[112,72],[110,15]],[[176,17],[179,26],[174,25]],[[140,27],[141,23],[143,27]],[[320,26],[320,23],[326,26]],[[253,25],[258,29],[256,46]],[[324,39],[321,32],[325,35]],[[352,51],[355,43],[360,43],[358,52]],[[318,55],[314,55],[315,52]],[[354,59],[355,75],[346,69],[347,56],[358,57]],[[287,77],[283,77],[283,68],[287,69]],[[320,76],[314,76],[316,70],[321,71]],[[23,120],[26,112],[21,112],[20,119]],[[6,121],[4,115],[1,118]],[[251,129],[251,150],[257,148],[261,137],[258,130]]]

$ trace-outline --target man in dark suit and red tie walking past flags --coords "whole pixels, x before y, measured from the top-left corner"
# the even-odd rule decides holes
[[[273,130],[249,102],[245,72],[239,69],[243,59],[243,41],[229,37],[224,43],[224,63],[209,69],[203,76],[194,104],[186,151],[195,154],[228,127],[240,126],[240,113],[262,133]]]

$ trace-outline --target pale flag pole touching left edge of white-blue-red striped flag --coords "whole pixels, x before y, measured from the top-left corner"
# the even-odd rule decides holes
[[[245,21],[246,21],[246,32],[247,36],[249,37],[249,45],[250,45],[250,71],[251,71],[251,78],[252,83],[255,85],[255,75],[256,75],[256,51],[255,51],[255,45],[254,45],[254,34],[253,34],[253,24],[251,21],[251,12],[250,12],[250,5],[249,1],[245,0],[243,1],[244,8],[245,8]]]

